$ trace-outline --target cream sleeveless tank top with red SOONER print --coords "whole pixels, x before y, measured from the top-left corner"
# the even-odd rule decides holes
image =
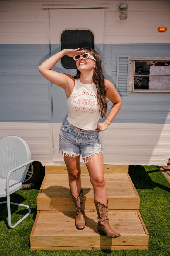
[[[71,125],[83,130],[97,129],[100,105],[97,102],[97,89],[94,83],[83,84],[80,79],[76,79],[67,104],[69,108],[67,119]]]

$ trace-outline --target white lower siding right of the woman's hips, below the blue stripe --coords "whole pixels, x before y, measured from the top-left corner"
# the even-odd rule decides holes
[[[102,134],[105,164],[166,165],[169,124],[111,123]]]

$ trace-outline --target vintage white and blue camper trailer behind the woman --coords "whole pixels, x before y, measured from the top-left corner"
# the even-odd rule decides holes
[[[0,138],[18,135],[29,144],[35,161],[64,164],[58,136],[67,115],[66,96],[39,73],[38,66],[61,48],[77,47],[87,39],[100,53],[104,74],[123,101],[114,121],[100,134],[104,163],[167,164],[170,1],[127,0],[124,20],[119,18],[120,2],[0,2]],[[167,31],[159,32],[159,27]],[[63,62],[55,69],[75,75],[72,63],[66,67]]]

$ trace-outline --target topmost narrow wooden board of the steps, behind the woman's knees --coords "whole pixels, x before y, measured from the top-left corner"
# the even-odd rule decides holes
[[[88,173],[86,165],[80,165],[81,173]],[[104,165],[104,173],[128,173],[128,165]],[[46,174],[65,174],[66,165],[46,165]]]

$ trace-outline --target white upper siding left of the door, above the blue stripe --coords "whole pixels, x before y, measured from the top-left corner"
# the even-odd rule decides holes
[[[48,16],[40,2],[36,8],[35,2],[13,2],[8,6],[0,12],[0,44],[49,43]]]

